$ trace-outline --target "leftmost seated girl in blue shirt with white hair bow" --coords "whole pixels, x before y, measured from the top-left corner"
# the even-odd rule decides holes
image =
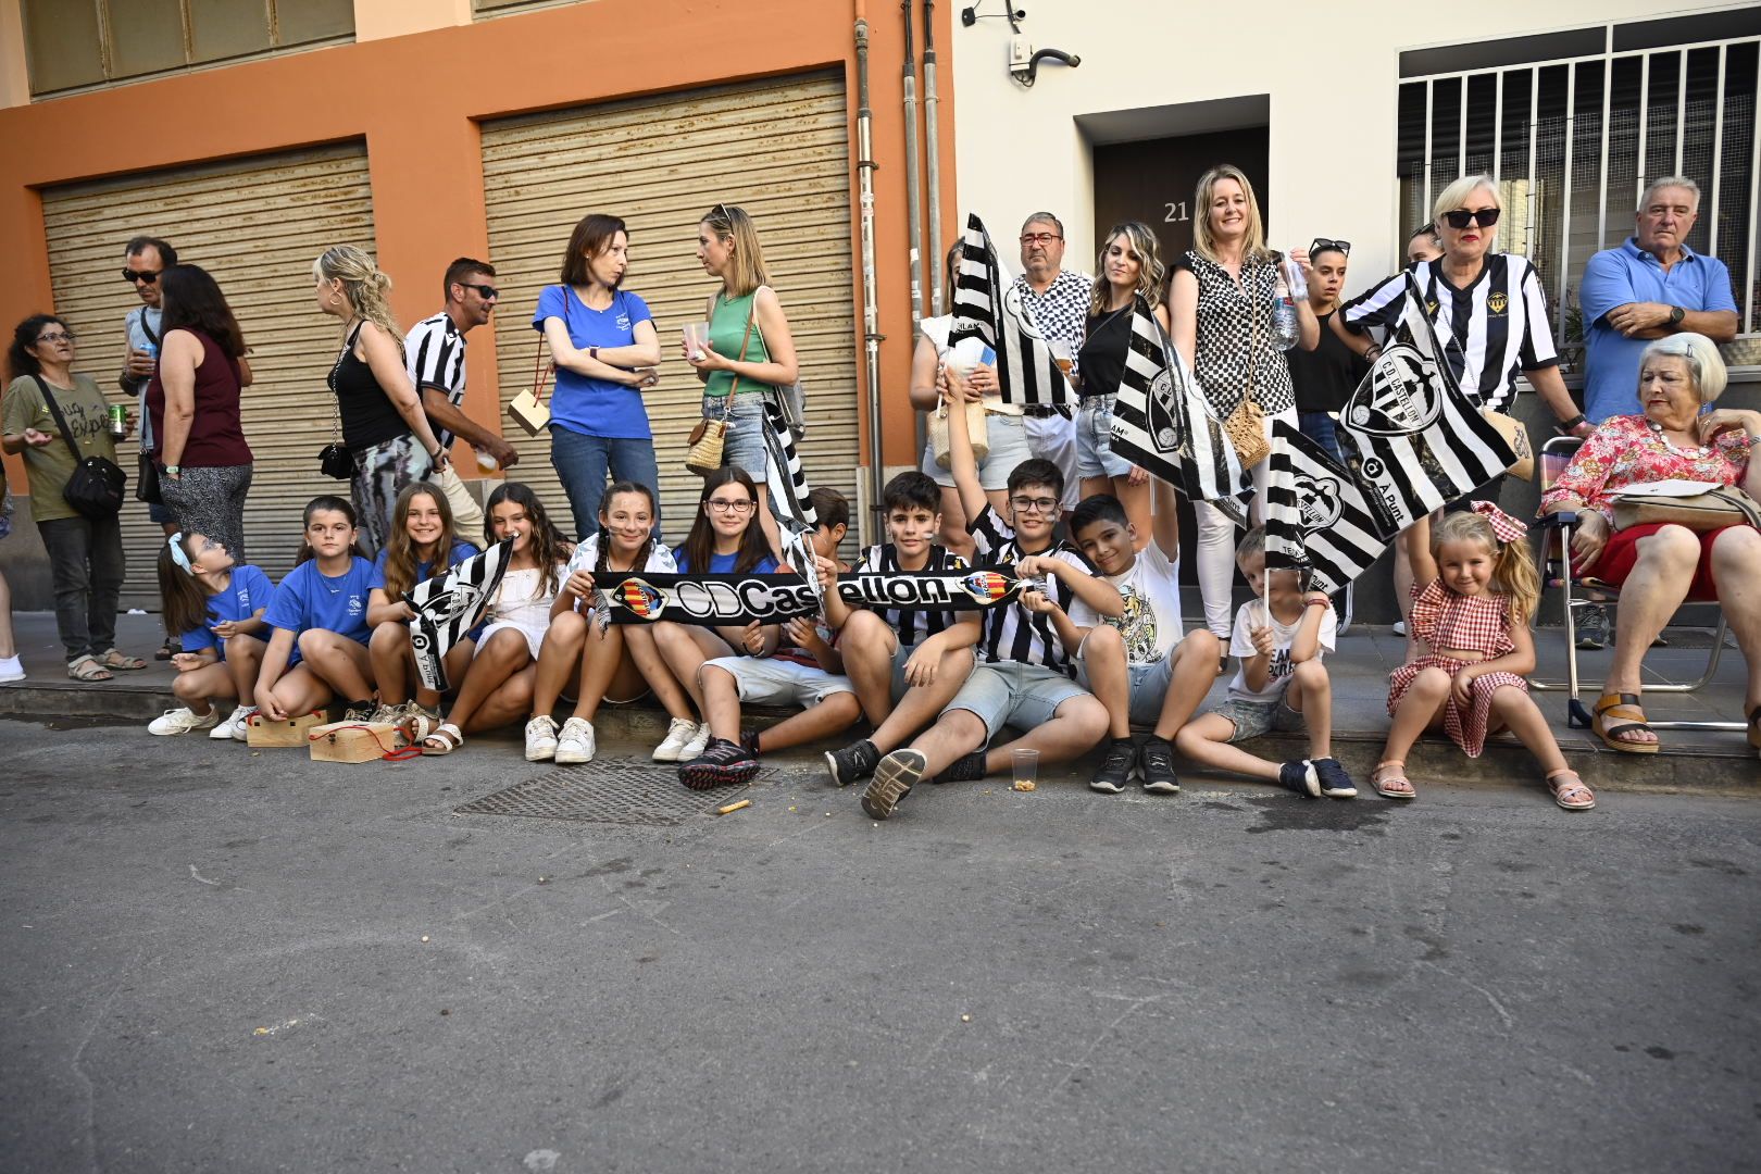
[[[158,595],[166,600],[166,628],[183,637],[183,651],[171,658],[178,671],[171,692],[183,706],[153,718],[148,732],[208,730],[215,739],[245,741],[269,630],[262,613],[273,593],[261,567],[234,567],[231,551],[206,535],[174,533],[166,540],[158,551]],[[215,697],[238,702],[225,720],[211,704]]]

